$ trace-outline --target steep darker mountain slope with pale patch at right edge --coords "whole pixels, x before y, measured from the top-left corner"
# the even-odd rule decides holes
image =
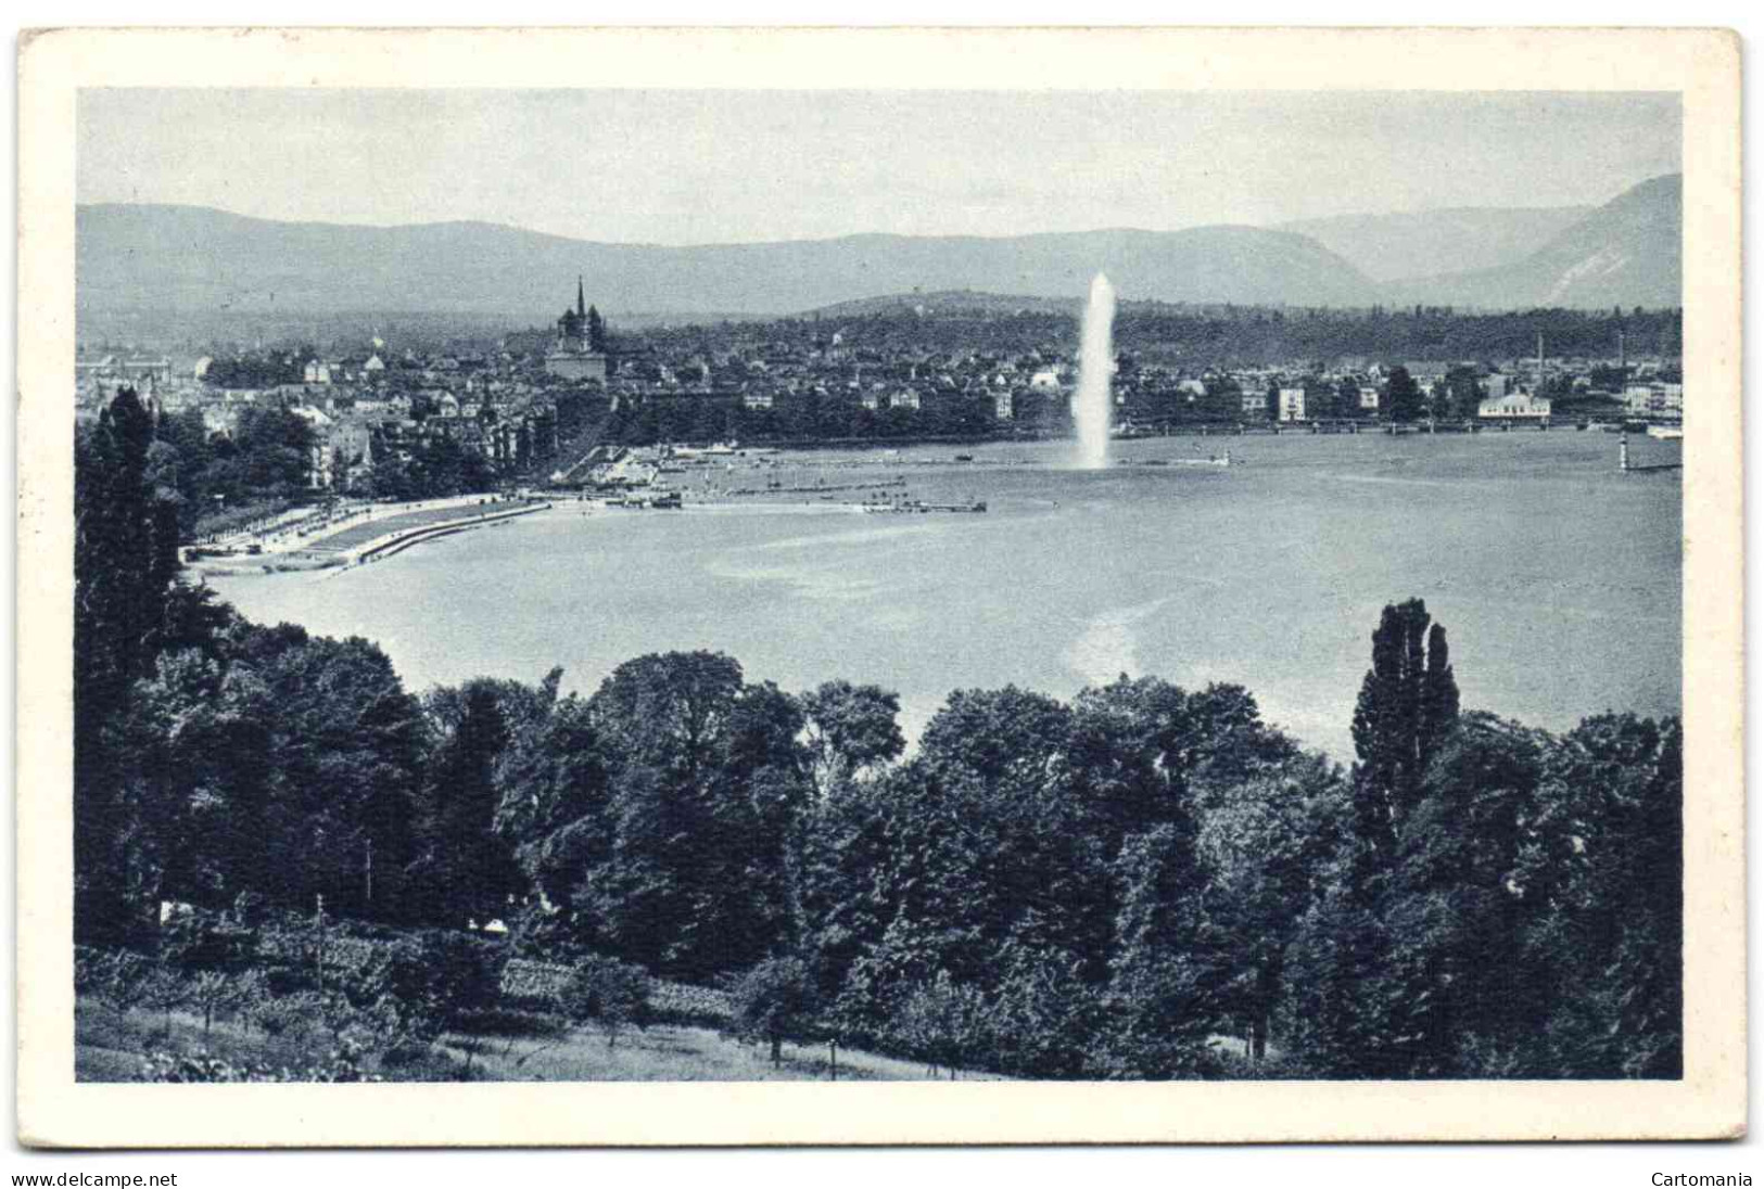
[[[1515,309],[1683,305],[1683,178],[1632,187],[1521,261],[1385,286],[1397,303]]]

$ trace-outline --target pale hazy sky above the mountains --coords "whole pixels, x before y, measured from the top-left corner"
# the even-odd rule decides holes
[[[78,192],[711,243],[1563,206],[1678,169],[1669,93],[86,90]]]

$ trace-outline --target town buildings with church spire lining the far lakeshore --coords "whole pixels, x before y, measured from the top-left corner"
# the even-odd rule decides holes
[[[986,423],[1048,432],[1076,386],[1080,360],[1069,340],[1023,346],[977,323],[972,346],[938,348],[912,330],[818,319],[653,326],[609,346],[579,279],[573,307],[550,330],[496,340],[388,348],[374,335],[328,353],[272,349],[185,363],[146,349],[92,353],[76,363],[76,406],[95,415],[127,383],[166,413],[199,409],[213,434],[236,432],[249,408],[291,409],[312,429],[310,485],[330,489],[362,485],[388,457],[407,460],[441,441],[499,471],[527,467],[561,445],[559,402],[584,397],[612,413],[714,402],[751,415],[746,425],[757,436],[785,436],[792,409],[808,404],[886,415],[896,427],[937,427],[954,409],[961,432]],[[1379,420],[1392,413],[1399,365],[1431,408],[1454,393],[1454,416],[1469,415],[1466,392],[1473,415],[1489,422],[1551,418],[1565,393],[1603,397],[1630,416],[1683,416],[1671,360],[1621,358],[1612,369],[1611,360],[1549,358],[1540,349],[1499,363],[1344,358],[1228,369],[1122,353],[1113,362],[1115,420]]]

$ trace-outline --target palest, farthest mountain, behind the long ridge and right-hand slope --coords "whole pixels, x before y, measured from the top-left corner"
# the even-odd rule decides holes
[[[1524,259],[1593,206],[1461,206],[1390,215],[1335,215],[1279,224],[1309,235],[1372,280],[1496,268]]]

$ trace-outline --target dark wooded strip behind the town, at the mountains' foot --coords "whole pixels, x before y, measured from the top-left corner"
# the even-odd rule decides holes
[[[847,340],[900,351],[1030,351],[1073,342],[1081,302],[1007,298],[997,295],[928,295],[854,303],[797,318],[677,316],[654,325],[633,314],[612,314],[623,335],[616,351],[653,346],[665,355],[727,349],[760,339],[811,340],[843,330]],[[644,325],[651,323],[651,325]],[[81,309],[79,340],[95,349],[125,342],[161,342],[183,351],[206,351],[222,363],[215,383],[252,388],[300,383],[300,363],[323,344],[330,355],[362,351],[369,328],[400,348],[416,351],[496,351],[510,333],[510,319],[487,314],[224,314],[203,310],[129,310],[127,316]],[[1184,358],[1219,365],[1263,363],[1289,358],[1365,355],[1394,360],[1506,360],[1536,349],[1542,332],[1552,355],[1609,356],[1616,332],[1628,335],[1632,355],[1678,355],[1683,348],[1679,310],[1538,309],[1482,312],[1438,305],[1372,309],[1265,307],[1228,303],[1122,302],[1117,342],[1124,349],[1180,349]],[[515,332],[526,333],[526,332]],[[531,332],[536,344],[550,330]],[[270,356],[242,363],[252,340],[270,344]],[[388,358],[388,363],[395,360]],[[231,372],[226,369],[238,369]]]

